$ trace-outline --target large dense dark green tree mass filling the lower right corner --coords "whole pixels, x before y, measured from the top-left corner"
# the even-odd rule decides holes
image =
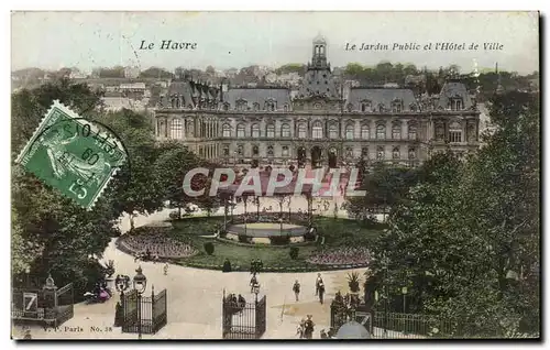
[[[388,291],[408,286],[409,311],[464,337],[539,332],[539,116],[538,96],[495,96],[485,146],[435,155],[393,210],[372,269]]]

